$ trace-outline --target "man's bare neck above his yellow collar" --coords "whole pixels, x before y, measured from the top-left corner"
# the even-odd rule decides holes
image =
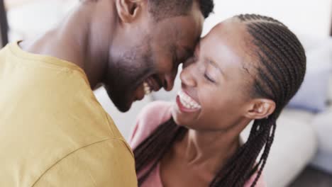
[[[108,4],[105,5],[107,2]],[[57,57],[77,64],[87,74],[89,84],[94,89],[103,81],[109,65],[109,47],[112,30],[114,30],[114,18],[112,19],[112,13],[105,12],[111,11],[112,2],[81,3],[61,22],[60,26],[36,40],[21,42],[20,46],[27,52]],[[106,15],[100,16],[98,15],[100,13]],[[98,18],[103,18],[104,22],[97,20]]]

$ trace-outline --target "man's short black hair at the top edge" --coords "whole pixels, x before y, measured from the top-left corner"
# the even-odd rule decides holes
[[[204,18],[207,18],[214,9],[214,0],[148,0],[148,4],[155,19],[161,20],[185,15],[192,8],[194,1],[199,3]]]

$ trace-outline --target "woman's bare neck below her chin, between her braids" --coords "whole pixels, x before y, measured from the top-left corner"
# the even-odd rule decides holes
[[[226,131],[188,130],[175,147],[176,157],[215,175],[240,147],[240,132],[247,125],[245,122]]]

